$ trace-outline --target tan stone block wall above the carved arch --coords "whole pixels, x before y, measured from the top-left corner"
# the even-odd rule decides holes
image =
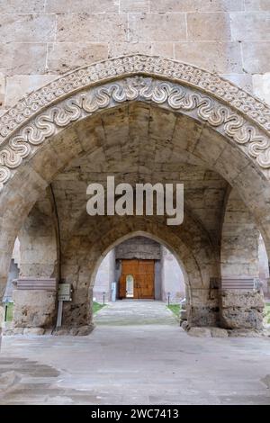
[[[0,110],[59,74],[130,53],[175,58],[270,101],[268,0],[0,2]]]

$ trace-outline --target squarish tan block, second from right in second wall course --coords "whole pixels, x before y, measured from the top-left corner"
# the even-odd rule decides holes
[[[230,40],[229,14],[187,14],[188,40]]]

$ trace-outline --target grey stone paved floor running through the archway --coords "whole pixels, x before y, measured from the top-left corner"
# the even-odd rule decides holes
[[[95,320],[87,337],[5,337],[0,404],[270,404],[269,338],[193,338],[160,302]]]

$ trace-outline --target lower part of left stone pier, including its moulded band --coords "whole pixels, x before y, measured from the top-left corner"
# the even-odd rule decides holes
[[[14,333],[42,335],[56,322],[57,283],[55,279],[18,279],[13,293]]]

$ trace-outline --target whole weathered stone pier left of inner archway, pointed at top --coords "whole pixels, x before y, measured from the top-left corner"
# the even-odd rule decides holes
[[[19,232],[20,275],[14,289],[14,332],[42,334],[57,317],[58,252],[51,203],[37,202]]]

